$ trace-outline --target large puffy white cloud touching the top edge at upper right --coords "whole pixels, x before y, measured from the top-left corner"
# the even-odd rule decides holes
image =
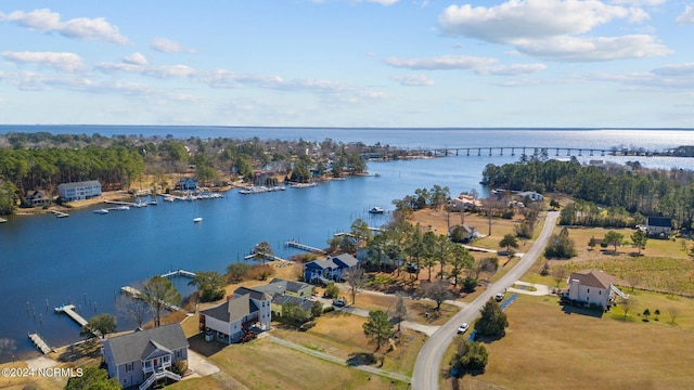
[[[630,11],[587,0],[510,0],[485,8],[450,5],[439,16],[444,32],[496,43],[582,34]]]

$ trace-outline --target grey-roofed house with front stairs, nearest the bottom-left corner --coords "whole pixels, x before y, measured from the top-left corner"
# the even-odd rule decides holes
[[[176,361],[188,361],[188,339],[180,324],[107,338],[102,354],[108,376],[124,387],[150,388],[164,378],[180,380],[171,370]]]

